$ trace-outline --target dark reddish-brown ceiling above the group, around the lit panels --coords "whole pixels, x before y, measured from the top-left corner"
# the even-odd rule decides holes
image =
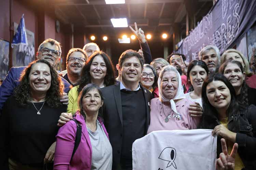
[[[193,1],[195,23],[200,21],[213,6],[212,0]],[[54,0],[55,15],[65,24],[74,24],[85,29],[88,34],[121,37],[129,28],[113,28],[111,18],[127,18],[128,25],[138,27],[153,35],[152,40],[160,40],[162,33],[168,33],[172,41],[173,24],[179,23],[181,36],[186,34],[185,0],[125,0],[125,4],[105,4],[104,0]],[[159,37],[159,38],[156,38]]]

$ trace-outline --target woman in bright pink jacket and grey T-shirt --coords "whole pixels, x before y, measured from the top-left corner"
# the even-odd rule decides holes
[[[80,92],[79,111],[74,118],[82,126],[81,141],[72,156],[77,125],[69,121],[56,136],[55,170],[111,170],[112,147],[102,122],[103,96],[98,85],[88,84]]]

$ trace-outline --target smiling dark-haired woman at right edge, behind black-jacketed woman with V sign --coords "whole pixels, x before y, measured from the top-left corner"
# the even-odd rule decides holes
[[[223,63],[219,68],[219,73],[222,73],[232,84],[240,104],[245,106],[256,105],[256,89],[247,86],[245,72],[240,62],[227,61]]]

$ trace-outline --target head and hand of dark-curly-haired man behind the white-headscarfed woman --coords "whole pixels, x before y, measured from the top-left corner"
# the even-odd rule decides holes
[[[187,73],[187,64],[185,63],[186,59],[187,57],[180,53],[171,53],[171,55],[167,57],[167,61],[170,65],[174,66],[181,75],[186,75]]]

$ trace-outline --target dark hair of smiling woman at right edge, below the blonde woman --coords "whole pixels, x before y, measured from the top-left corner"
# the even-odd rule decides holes
[[[244,72],[244,69],[243,69],[243,66],[240,62],[238,61],[226,61],[224,62],[221,67],[219,67],[219,73],[221,74],[224,74],[224,71],[225,71],[225,68],[227,67],[227,65],[229,63],[232,63],[232,64],[236,64],[238,65],[238,67],[240,68],[241,72],[243,73]],[[242,104],[244,106],[249,106],[249,99],[248,99],[248,86],[246,84],[245,81],[243,81],[243,84],[242,84],[242,88],[241,88],[241,92],[240,92],[240,96],[242,97],[241,100],[239,100],[239,104]]]

